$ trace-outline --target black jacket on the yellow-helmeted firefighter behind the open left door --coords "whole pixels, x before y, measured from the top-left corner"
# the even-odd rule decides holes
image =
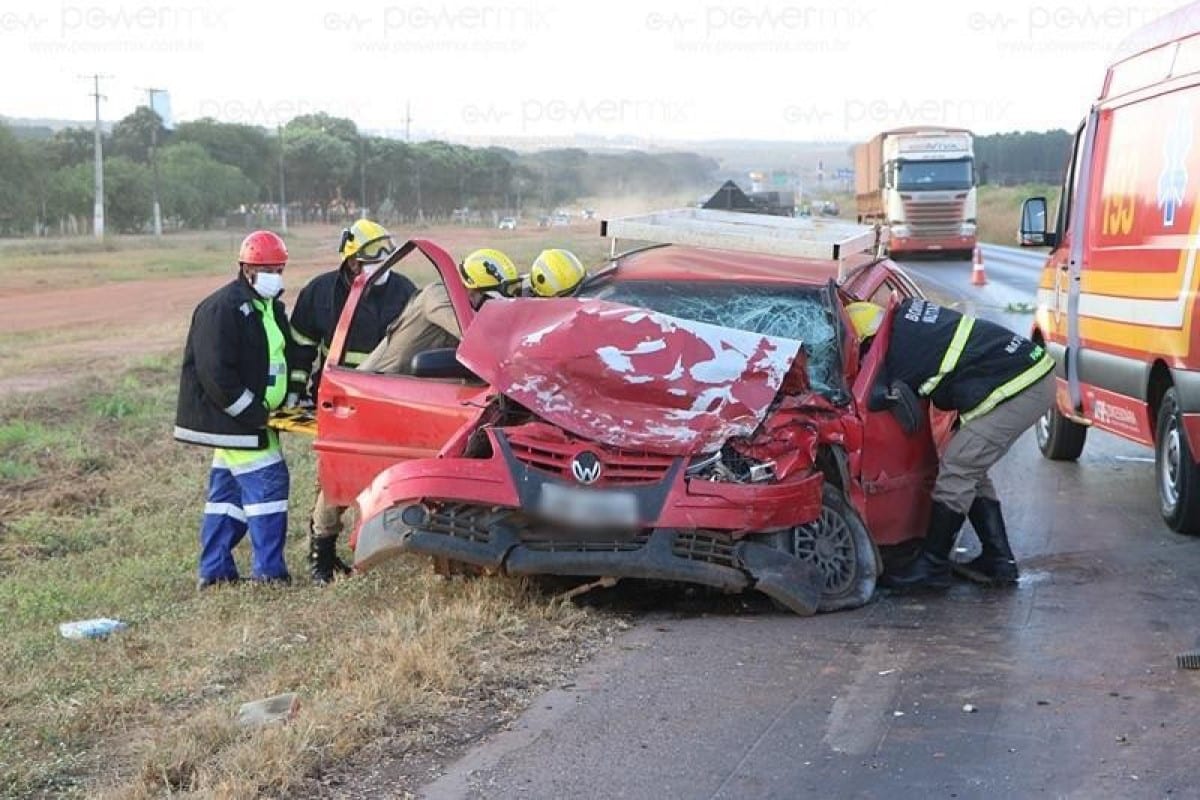
[[[388,325],[400,315],[415,291],[413,282],[396,272],[390,272],[386,281],[366,290],[346,337],[347,363],[356,365],[383,341]],[[304,393],[310,374],[319,369],[318,356],[324,359],[329,353],[349,293],[350,283],[341,267],[322,272],[300,290],[292,308],[292,339],[296,345],[295,363],[292,365],[293,390]],[[312,374],[312,392],[316,395],[319,374]]]

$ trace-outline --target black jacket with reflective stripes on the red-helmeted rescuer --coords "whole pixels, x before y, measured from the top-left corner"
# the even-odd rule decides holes
[[[192,313],[175,407],[175,438],[180,441],[233,450],[266,446],[263,401],[271,375],[266,330],[254,300],[260,297],[239,276],[202,300]],[[270,308],[290,348],[283,303],[272,300]],[[287,371],[275,380],[287,380]]]

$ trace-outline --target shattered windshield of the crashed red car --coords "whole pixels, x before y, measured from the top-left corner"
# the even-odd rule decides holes
[[[698,323],[799,339],[812,389],[829,398],[844,393],[838,325],[821,288],[622,281],[588,287],[582,295]]]

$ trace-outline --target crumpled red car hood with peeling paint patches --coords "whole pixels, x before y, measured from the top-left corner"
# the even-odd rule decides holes
[[[602,300],[522,299],[485,303],[458,360],[578,437],[683,456],[751,434],[799,348]]]

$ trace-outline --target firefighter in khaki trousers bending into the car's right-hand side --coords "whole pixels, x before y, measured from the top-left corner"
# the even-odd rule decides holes
[[[884,309],[870,302],[846,306],[860,338],[874,336]],[[950,583],[950,548],[967,518],[983,554],[955,571],[979,583],[1016,583],[992,464],[1054,403],[1054,360],[1045,349],[1013,331],[960,314],[919,297],[902,301],[892,317],[883,372],[871,410],[916,405],[929,397],[959,414],[959,427],[942,453],[934,483],[929,530],[917,558],[884,572],[880,585],[895,590],[944,589]]]

